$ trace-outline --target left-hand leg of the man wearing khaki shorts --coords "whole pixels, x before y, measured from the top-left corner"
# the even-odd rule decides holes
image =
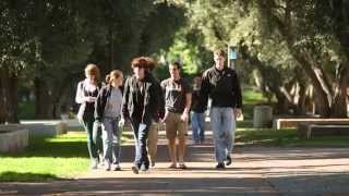
[[[168,113],[168,117],[165,122],[165,128],[166,128],[166,137],[168,139],[168,152],[170,156],[170,168],[177,167],[177,158],[176,158],[176,121],[174,121],[174,114],[172,112]]]

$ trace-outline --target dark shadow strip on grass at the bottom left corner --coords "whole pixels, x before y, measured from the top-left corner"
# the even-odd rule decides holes
[[[31,182],[31,181],[52,181],[62,180],[56,175],[48,173],[17,173],[12,171],[5,171],[0,173],[0,182]],[[67,180],[67,179],[65,179]]]

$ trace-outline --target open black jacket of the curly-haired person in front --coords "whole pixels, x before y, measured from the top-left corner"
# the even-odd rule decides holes
[[[133,75],[129,77],[124,84],[122,99],[122,117],[124,119],[141,115],[143,123],[151,123],[152,119],[158,121],[165,115],[165,99],[159,82],[152,73],[145,72],[144,83],[144,99],[142,111],[135,111],[137,101],[137,78]],[[134,113],[134,112],[142,112]]]

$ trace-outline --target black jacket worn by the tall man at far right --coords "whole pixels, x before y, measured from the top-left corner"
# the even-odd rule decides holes
[[[242,107],[240,82],[236,71],[224,68],[219,71],[215,66],[205,71],[200,90],[200,107],[206,108],[208,96],[212,107]]]

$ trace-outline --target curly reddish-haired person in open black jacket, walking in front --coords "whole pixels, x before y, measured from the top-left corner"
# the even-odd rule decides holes
[[[130,120],[135,138],[135,159],[132,171],[149,169],[146,140],[152,121],[163,119],[165,101],[157,79],[152,75],[154,61],[149,58],[135,58],[131,62],[133,75],[124,84],[122,118]]]

